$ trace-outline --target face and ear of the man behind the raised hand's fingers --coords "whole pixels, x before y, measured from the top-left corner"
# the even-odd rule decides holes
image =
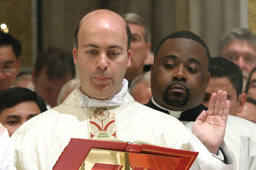
[[[227,100],[230,101],[229,114],[236,116],[237,113],[241,113],[246,102],[246,94],[240,94],[237,99],[237,92],[231,84],[230,79],[227,77],[210,78],[202,104],[209,108],[212,93],[217,93],[219,90],[228,93]]]

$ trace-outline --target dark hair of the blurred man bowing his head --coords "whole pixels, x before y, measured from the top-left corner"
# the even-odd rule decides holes
[[[47,52],[41,53],[35,61],[34,70],[37,78],[41,69],[47,67],[49,79],[65,78],[67,74],[75,77],[75,65],[72,54],[68,54],[58,48],[49,47]]]

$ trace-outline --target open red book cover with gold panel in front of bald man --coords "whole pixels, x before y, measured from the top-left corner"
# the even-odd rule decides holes
[[[152,170],[188,170],[198,155],[198,152],[164,148],[148,144],[137,145],[123,142],[71,138],[69,144],[54,165],[53,170],[78,170],[82,164],[84,164],[91,149],[129,153],[128,160],[125,161],[128,161],[130,167],[134,170],[143,169],[145,167]],[[108,157],[108,159],[111,158]],[[122,167],[123,165],[110,165],[97,162],[90,170],[121,170]]]

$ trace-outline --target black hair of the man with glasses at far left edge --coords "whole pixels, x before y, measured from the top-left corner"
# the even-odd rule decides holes
[[[14,51],[16,58],[18,59],[21,54],[22,46],[17,38],[12,37],[8,33],[4,33],[0,31],[0,46],[11,45],[12,50]]]

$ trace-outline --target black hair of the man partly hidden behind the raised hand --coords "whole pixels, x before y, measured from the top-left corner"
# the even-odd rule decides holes
[[[210,77],[227,77],[230,80],[236,91],[238,100],[243,88],[243,74],[239,66],[226,58],[213,57],[210,58],[209,69]]]

